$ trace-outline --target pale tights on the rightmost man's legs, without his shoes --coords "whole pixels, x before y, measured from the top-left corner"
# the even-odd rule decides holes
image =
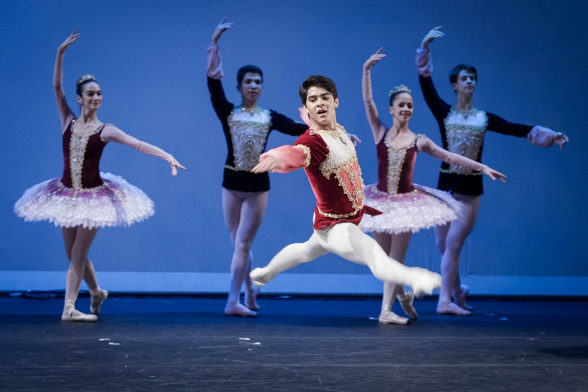
[[[451,303],[452,292],[453,294],[462,292],[459,277],[459,254],[462,252],[467,236],[472,232],[480,209],[480,196],[461,195],[460,193],[452,193],[452,196],[463,204],[462,213],[458,219],[447,223],[447,225],[435,227],[437,247],[442,254],[441,275],[443,277],[437,309]]]

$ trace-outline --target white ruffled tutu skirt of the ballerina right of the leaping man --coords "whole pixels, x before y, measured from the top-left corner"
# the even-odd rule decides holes
[[[457,219],[462,205],[448,192],[413,184],[408,193],[389,194],[377,189],[377,184],[364,189],[365,204],[383,212],[382,215],[364,215],[362,230],[367,233],[416,233],[420,229],[442,226]]]

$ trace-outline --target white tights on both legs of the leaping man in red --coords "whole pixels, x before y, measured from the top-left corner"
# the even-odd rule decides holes
[[[348,222],[314,230],[308,241],[289,244],[262,268],[262,278],[269,282],[280,272],[329,252],[350,262],[368,266],[373,276],[379,280],[410,284],[410,269],[391,259],[375,239]]]

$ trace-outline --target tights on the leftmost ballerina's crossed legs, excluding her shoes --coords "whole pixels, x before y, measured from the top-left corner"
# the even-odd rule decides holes
[[[88,252],[98,227],[94,229],[85,229],[82,226],[62,227],[61,232],[64,235],[65,254],[69,259],[68,275],[65,281],[65,301],[75,303],[82,277],[90,290],[98,289],[96,272],[88,259]]]

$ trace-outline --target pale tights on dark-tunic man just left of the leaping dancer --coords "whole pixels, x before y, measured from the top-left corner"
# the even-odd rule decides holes
[[[239,192],[222,188],[222,209],[225,224],[233,244],[233,257],[230,262],[230,287],[228,303],[239,303],[241,286],[252,291],[251,263],[253,254],[251,244],[262,223],[268,205],[268,192]]]

